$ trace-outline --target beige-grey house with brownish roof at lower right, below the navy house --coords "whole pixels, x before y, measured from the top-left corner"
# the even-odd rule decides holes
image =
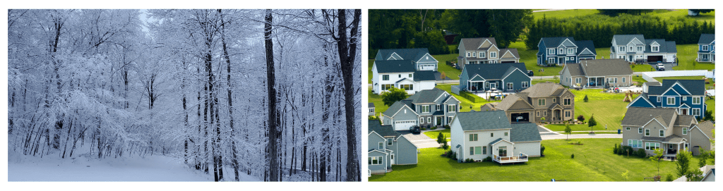
[[[711,130],[715,128],[710,121],[698,124],[692,115],[680,115],[675,108],[654,107],[628,107],[620,125],[623,146],[645,149],[649,155],[662,148],[663,156],[669,159],[682,149],[693,150],[696,155],[698,148],[710,150]]]

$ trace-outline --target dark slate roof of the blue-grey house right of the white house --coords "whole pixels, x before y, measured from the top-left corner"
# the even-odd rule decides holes
[[[525,63],[485,63],[485,64],[466,64],[464,71],[468,76],[475,76],[479,74],[482,78],[487,80],[502,79],[510,67],[519,68],[521,71],[526,72],[527,68]]]

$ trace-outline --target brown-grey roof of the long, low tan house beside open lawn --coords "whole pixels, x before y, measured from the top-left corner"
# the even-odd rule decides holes
[[[628,61],[623,59],[597,59],[580,61],[585,76],[622,76],[632,75]]]

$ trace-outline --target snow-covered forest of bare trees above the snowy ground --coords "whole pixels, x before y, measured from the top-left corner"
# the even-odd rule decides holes
[[[360,181],[360,19],[9,9],[8,153],[171,156],[215,181]]]

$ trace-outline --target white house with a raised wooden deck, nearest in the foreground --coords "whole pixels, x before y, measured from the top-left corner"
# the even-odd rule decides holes
[[[540,156],[540,137],[534,123],[510,123],[504,111],[458,112],[450,125],[457,161],[492,157],[500,164],[526,162]]]

